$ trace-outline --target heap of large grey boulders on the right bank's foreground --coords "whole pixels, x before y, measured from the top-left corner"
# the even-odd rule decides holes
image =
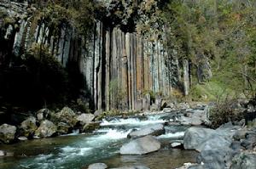
[[[226,123],[216,130],[191,127],[183,138],[184,149],[201,152],[189,168],[255,168],[256,130]]]

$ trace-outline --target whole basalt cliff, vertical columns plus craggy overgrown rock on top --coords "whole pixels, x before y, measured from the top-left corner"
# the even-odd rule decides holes
[[[183,60],[183,71],[179,72],[175,52],[164,45],[164,25],[155,22],[157,26],[148,31],[138,31],[148,22],[145,5],[154,11],[148,15],[155,15],[158,4],[152,2],[95,1],[105,15],[98,14],[90,34],[81,36],[67,24],[61,24],[54,33],[47,22],[35,17],[38,9],[30,1],[2,0],[0,10],[15,22],[3,26],[0,19],[0,66],[12,66],[14,57],[22,59],[33,46],[44,45],[63,67],[72,63],[79,70],[84,97],[94,103],[96,110],[142,110],[147,91],[168,96],[178,82],[183,83],[187,94],[189,62]],[[131,7],[137,8],[137,16],[129,14]],[[117,9],[125,11],[118,21],[113,17]]]

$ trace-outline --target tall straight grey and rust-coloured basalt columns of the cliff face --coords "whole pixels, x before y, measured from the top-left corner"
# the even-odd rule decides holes
[[[15,5],[20,10],[26,8],[13,3],[13,7]],[[2,3],[1,8],[4,8]],[[84,76],[84,88],[89,91],[87,97],[98,110],[142,110],[147,91],[163,95],[172,91],[172,75],[177,69],[168,61],[167,50],[157,37],[149,40],[137,32],[121,31],[119,25],[109,26],[101,20],[96,21],[94,31],[86,38],[79,37],[69,25],[62,25],[59,36],[54,36],[47,24],[35,25],[29,14],[21,17],[19,23],[19,29],[9,25],[5,35],[7,40],[14,41],[13,53],[19,57],[38,43],[48,46],[64,67],[75,63]],[[189,85],[188,75],[185,72],[184,75]]]

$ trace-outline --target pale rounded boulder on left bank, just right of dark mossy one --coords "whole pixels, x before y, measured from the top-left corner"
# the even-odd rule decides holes
[[[38,127],[38,130],[35,132],[36,137],[40,138],[49,138],[53,136],[57,132],[57,127],[55,124],[51,121],[44,120],[41,121],[40,127]]]

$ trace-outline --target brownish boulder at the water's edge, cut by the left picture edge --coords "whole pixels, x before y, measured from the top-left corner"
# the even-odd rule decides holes
[[[15,139],[16,127],[8,124],[0,126],[0,142],[9,144]]]

